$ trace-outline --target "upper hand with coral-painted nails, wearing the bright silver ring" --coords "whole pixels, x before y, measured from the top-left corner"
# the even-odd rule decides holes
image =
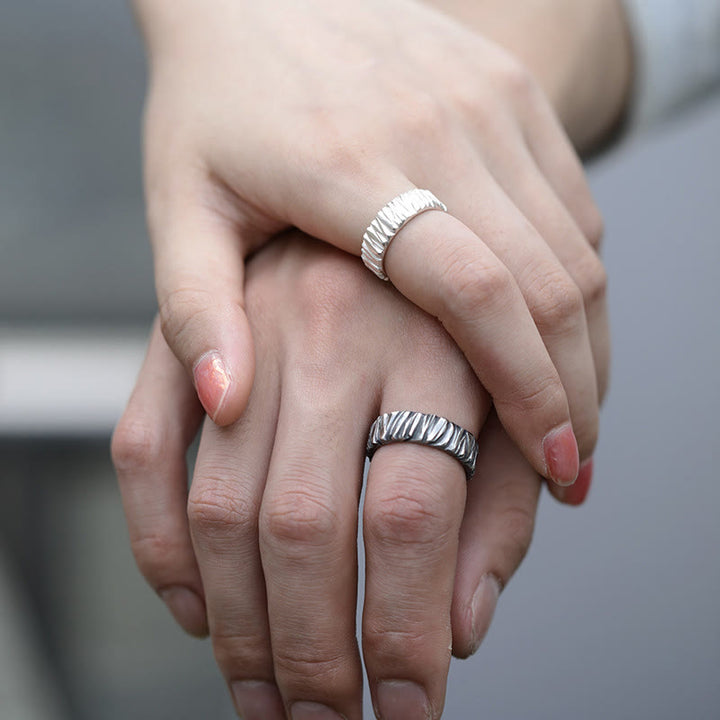
[[[136,5],[160,317],[210,416],[237,419],[252,385],[244,256],[289,226],[357,254],[381,206],[427,187],[450,213],[402,229],[388,274],[535,470],[571,483],[607,375],[601,220],[529,73],[408,0]]]

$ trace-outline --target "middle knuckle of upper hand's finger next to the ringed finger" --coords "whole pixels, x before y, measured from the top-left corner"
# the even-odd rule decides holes
[[[564,271],[537,273],[529,296],[530,311],[543,334],[572,330],[584,315],[580,288]]]

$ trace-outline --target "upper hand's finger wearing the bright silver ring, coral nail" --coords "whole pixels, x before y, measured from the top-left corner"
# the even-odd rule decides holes
[[[512,272],[465,225],[442,213],[417,218],[393,245],[391,279],[456,339],[523,454],[543,476],[574,482],[578,448],[567,393]],[[568,292],[557,309],[558,332],[572,333],[577,317]]]

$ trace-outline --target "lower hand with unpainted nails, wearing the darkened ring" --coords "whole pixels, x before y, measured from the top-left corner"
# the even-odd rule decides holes
[[[477,432],[490,400],[440,325],[347,255],[278,241],[250,264],[246,290],[257,378],[239,422],[205,424],[187,513],[184,457],[201,410],[154,329],[113,440],[133,552],[178,622],[209,629],[246,720],[283,718],[283,708],[294,720],[335,717],[313,704],[359,719],[369,425],[411,408]],[[588,483],[567,492],[577,501]],[[438,450],[377,451],[363,515],[363,649],[384,720],[426,717],[425,702],[440,716],[449,648],[466,656],[485,634],[530,542],[539,488],[492,416],[469,483]]]

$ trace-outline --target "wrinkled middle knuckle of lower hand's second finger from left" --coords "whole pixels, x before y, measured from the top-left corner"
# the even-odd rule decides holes
[[[257,507],[241,493],[237,480],[221,478],[194,482],[188,499],[188,520],[193,532],[219,539],[255,534]]]

